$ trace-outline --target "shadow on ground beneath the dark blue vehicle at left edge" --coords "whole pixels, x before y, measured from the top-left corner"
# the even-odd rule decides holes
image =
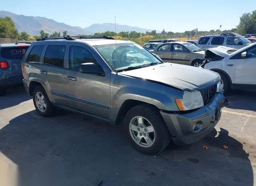
[[[16,86],[6,90],[6,95],[0,96],[0,110],[18,105],[31,99],[23,86]]]

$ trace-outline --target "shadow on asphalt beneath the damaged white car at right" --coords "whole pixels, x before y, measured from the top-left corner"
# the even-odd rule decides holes
[[[229,103],[227,108],[256,112],[256,93],[245,91],[230,91],[225,95]]]

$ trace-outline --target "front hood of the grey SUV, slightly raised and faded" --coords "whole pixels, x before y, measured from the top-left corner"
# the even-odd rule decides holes
[[[123,71],[120,74],[165,84],[183,91],[204,89],[220,80],[220,76],[216,72],[175,63],[162,63]]]

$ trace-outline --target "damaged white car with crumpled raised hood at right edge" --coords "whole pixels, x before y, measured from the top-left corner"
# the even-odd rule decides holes
[[[225,46],[206,49],[200,68],[219,73],[224,92],[256,91],[256,43],[239,50]]]

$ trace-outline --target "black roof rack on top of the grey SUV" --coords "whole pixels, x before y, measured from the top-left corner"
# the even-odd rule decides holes
[[[112,37],[108,36],[58,36],[58,37],[43,37],[41,39],[38,39],[36,41],[45,41],[45,40],[76,40],[76,39],[108,39],[108,40],[114,40]]]

